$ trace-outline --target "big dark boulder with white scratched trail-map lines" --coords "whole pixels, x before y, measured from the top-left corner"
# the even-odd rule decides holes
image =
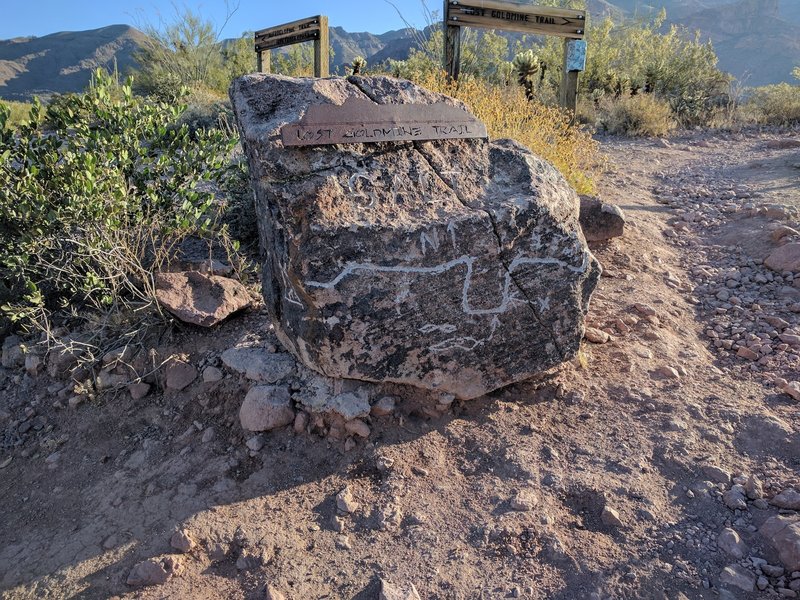
[[[550,164],[510,140],[283,145],[314,104],[462,106],[403,80],[257,74],[230,94],[264,297],[304,364],[469,399],[576,354],[600,268]]]

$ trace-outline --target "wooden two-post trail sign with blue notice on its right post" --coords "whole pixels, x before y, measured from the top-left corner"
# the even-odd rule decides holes
[[[498,0],[444,0],[444,68],[450,79],[458,79],[461,62],[461,28],[480,27],[520,31],[534,35],[555,35],[564,41],[564,76],[561,81],[562,106],[575,110],[578,97],[578,72],[582,64],[570,55],[586,56],[585,42],[575,45],[586,35],[586,11],[531,6]],[[571,48],[573,48],[571,50]],[[580,66],[580,69],[575,69]]]

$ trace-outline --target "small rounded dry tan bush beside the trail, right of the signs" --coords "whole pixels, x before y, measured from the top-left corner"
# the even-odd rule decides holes
[[[664,136],[674,127],[670,104],[653,94],[602,101],[600,126],[608,133],[628,136]]]

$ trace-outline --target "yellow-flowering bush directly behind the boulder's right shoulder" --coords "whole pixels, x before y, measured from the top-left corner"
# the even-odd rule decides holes
[[[572,123],[569,113],[528,101],[519,86],[492,85],[477,78],[448,83],[443,73],[418,81],[433,91],[463,101],[486,124],[493,138],[512,138],[553,163],[581,194],[594,191],[600,167],[599,144]]]

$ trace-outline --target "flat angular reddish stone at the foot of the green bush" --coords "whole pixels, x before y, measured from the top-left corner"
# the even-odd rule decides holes
[[[250,306],[250,295],[238,281],[197,271],[158,273],[156,298],[185,323],[213,327]]]

